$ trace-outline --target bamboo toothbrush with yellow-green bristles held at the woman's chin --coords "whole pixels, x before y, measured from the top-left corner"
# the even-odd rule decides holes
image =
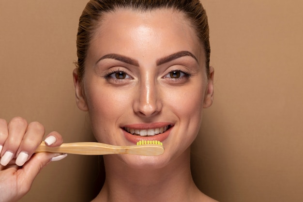
[[[76,155],[109,155],[109,154],[132,154],[132,155],[162,155],[164,147],[160,141],[140,140],[133,146],[114,146],[99,142],[74,142],[63,143],[58,147],[48,147],[43,141],[35,153],[51,152]]]

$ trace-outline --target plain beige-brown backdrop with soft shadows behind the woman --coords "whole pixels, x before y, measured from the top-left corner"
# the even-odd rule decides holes
[[[193,146],[199,188],[221,202],[303,201],[303,1],[203,0],[215,100]],[[85,0],[0,0],[0,117],[93,140],[72,81]],[[96,156],[43,170],[22,202],[93,197]]]

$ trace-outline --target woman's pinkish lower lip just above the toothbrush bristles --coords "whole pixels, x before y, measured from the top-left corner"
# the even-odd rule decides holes
[[[128,133],[127,131],[123,130],[124,136],[126,138],[126,140],[133,142],[133,143],[137,143],[140,140],[156,140],[156,141],[164,141],[165,139],[167,139],[167,137],[170,134],[172,127],[169,128],[167,131],[165,131],[164,133],[158,134],[158,135],[154,135],[154,136],[137,136],[137,135],[132,135],[130,133]]]

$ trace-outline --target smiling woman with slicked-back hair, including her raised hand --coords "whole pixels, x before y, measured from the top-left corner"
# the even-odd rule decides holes
[[[77,56],[76,103],[88,111],[96,140],[165,146],[160,156],[105,155],[106,181],[93,201],[214,202],[194,184],[189,162],[213,98],[199,0],[91,0],[80,17]],[[20,199],[43,167],[66,156],[33,155],[43,135],[39,123],[0,120],[0,201]],[[59,146],[62,138],[52,132],[45,142]]]

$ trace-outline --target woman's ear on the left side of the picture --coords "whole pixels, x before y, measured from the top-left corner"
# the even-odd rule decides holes
[[[84,89],[83,85],[79,80],[78,76],[78,70],[77,68],[73,71],[73,78],[74,78],[74,85],[75,85],[75,91],[76,91],[76,104],[79,109],[83,111],[88,111],[85,95],[84,95]]]

